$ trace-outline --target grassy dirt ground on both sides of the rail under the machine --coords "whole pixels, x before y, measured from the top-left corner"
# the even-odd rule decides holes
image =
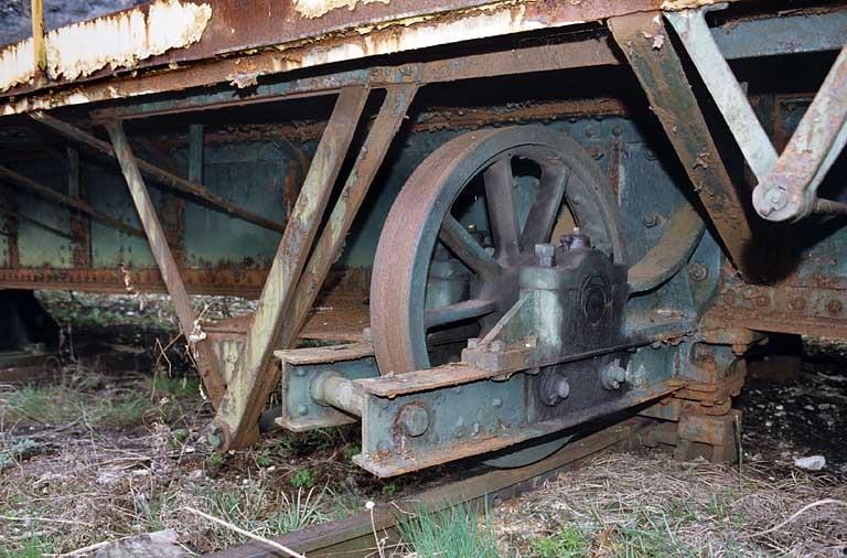
[[[0,557],[163,528],[205,552],[244,539],[186,507],[276,535],[457,474],[376,480],[351,462],[355,428],[274,432],[249,450],[215,454],[202,436],[211,408],[165,299],[44,300],[64,326],[60,355],[44,363],[52,379],[0,379]],[[237,299],[196,304],[215,318],[249,310]],[[740,468],[676,463],[661,452],[601,455],[492,511],[497,546],[540,558],[847,556],[847,374],[815,358],[779,384],[748,383],[738,399]],[[794,464],[818,454],[821,471]]]

